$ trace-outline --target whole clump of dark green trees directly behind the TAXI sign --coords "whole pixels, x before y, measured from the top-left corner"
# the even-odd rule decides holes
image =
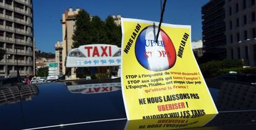
[[[121,47],[121,26],[114,23],[111,16],[105,22],[98,16],[90,18],[85,10],[76,15],[73,48],[86,44],[114,44]]]

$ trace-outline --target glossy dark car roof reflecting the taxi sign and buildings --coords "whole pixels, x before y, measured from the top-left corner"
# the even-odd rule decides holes
[[[215,80],[207,80],[207,84],[220,112],[215,117],[217,122],[246,117],[240,124],[254,124],[256,104],[254,99],[245,97],[255,95],[255,87]],[[127,124],[120,78],[0,87],[1,92],[9,94],[0,100],[2,129],[124,129]],[[205,127],[228,124],[215,123],[215,119]],[[229,123],[235,124],[239,123]]]

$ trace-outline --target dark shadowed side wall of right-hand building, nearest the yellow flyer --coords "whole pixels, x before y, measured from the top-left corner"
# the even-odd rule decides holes
[[[226,58],[224,0],[211,0],[202,7],[202,38],[206,55]]]

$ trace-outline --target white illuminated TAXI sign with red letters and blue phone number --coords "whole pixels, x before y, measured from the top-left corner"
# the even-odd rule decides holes
[[[69,51],[66,67],[103,67],[121,65],[121,49],[109,44],[90,44]]]

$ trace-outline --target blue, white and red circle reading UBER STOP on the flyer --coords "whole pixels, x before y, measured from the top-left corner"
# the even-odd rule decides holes
[[[147,26],[140,32],[135,43],[135,56],[147,70],[168,70],[176,62],[176,51],[171,38],[162,29],[158,42],[155,42],[157,31],[157,26]]]

